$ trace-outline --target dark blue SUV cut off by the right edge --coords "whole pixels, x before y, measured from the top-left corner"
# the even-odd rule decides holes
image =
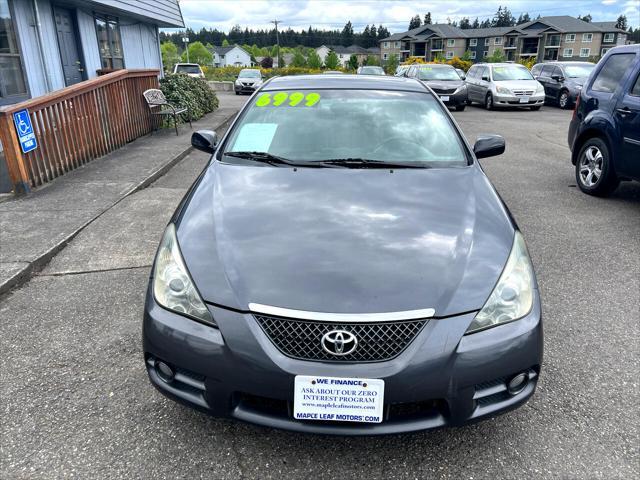
[[[580,190],[605,196],[640,181],[640,45],[612,48],[577,99],[569,126]]]

